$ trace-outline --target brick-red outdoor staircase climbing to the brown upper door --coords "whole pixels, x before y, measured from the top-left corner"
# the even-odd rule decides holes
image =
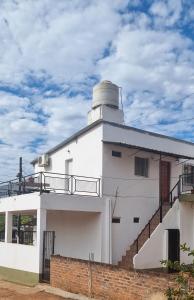
[[[133,257],[139,252],[145,242],[150,238],[152,232],[156,227],[162,222],[163,218],[167,212],[172,207],[173,203],[176,201],[180,194],[180,180],[176,183],[174,188],[169,194],[169,202],[162,203],[157,211],[153,214],[149,222],[145,225],[143,230],[138,235],[137,239],[132,243],[129,250],[126,251],[125,255],[122,256],[121,261],[119,261],[118,266],[129,270],[133,269]]]

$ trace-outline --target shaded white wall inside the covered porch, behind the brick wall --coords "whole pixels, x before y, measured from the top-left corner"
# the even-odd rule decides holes
[[[47,230],[55,231],[55,254],[101,261],[101,214],[49,211]]]

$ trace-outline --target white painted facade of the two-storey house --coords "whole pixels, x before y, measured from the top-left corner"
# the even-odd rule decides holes
[[[49,150],[48,166],[33,161],[35,173],[43,172],[45,190],[0,199],[0,212],[6,214],[0,257],[6,251],[10,257],[0,259],[0,266],[41,273],[44,231],[55,232],[55,254],[117,264],[159,207],[161,161],[170,164],[171,190],[182,161],[194,157],[194,144],[124,126],[123,112],[114,105],[118,99],[110,97],[106,105],[97,98],[88,127]],[[136,157],[147,160],[147,176],[135,175]],[[31,246],[12,244],[10,238],[10,215],[25,211],[37,216]],[[194,246],[193,225],[193,209],[177,200],[134,256],[134,267],[160,267],[168,256],[169,228],[180,229],[181,242],[192,239]],[[152,249],[157,249],[154,258]],[[181,259],[187,261],[182,254]]]

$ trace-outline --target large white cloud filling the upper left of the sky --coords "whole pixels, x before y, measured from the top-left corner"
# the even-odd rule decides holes
[[[119,27],[116,1],[113,4],[23,0],[16,5],[3,1],[0,81],[20,83],[33,71],[63,84],[80,82],[95,73],[95,61]]]

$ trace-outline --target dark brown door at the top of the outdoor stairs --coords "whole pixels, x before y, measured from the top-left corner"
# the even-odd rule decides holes
[[[160,199],[162,202],[169,202],[170,193],[170,162],[160,162]]]

